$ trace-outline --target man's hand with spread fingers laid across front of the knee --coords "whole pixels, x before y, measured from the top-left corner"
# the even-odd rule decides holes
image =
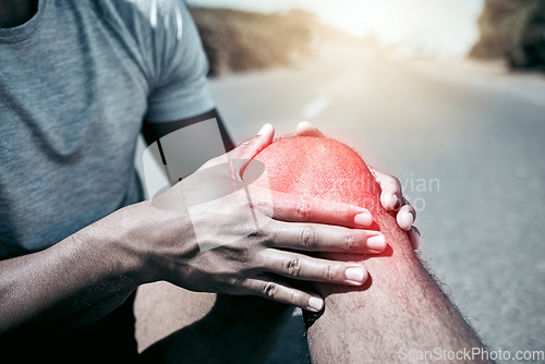
[[[384,235],[363,229],[373,221],[368,210],[252,184],[237,187],[240,170],[250,168],[250,160],[272,138],[274,129],[267,124],[259,135],[145,205],[144,214],[173,217],[138,232],[153,241],[147,252],[155,267],[153,280],[193,291],[258,295],[310,311],[320,311],[324,302],[298,288],[298,281],[366,281],[361,263],[315,258],[306,252],[382,253]],[[214,195],[229,189],[232,193]]]

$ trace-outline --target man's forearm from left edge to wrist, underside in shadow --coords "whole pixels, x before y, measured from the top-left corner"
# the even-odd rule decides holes
[[[118,307],[143,279],[143,262],[125,241],[131,214],[120,210],[45,251],[0,262],[0,332],[69,328]]]

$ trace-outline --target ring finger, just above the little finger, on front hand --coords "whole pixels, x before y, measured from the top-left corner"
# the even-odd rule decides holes
[[[262,256],[263,269],[292,279],[362,286],[368,277],[365,267],[358,263],[319,259],[272,248],[264,250]]]

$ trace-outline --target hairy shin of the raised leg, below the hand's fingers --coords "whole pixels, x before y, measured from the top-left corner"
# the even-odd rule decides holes
[[[313,362],[335,357],[342,363],[393,363],[402,362],[407,351],[482,348],[395,219],[379,208],[373,216],[391,250],[365,260],[371,278],[361,289],[318,287],[326,310],[314,323],[306,317]],[[361,260],[361,256],[350,258]]]

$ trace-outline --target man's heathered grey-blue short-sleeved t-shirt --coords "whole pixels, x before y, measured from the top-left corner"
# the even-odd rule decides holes
[[[142,198],[143,119],[214,108],[182,0],[40,0],[0,28],[0,259]]]

